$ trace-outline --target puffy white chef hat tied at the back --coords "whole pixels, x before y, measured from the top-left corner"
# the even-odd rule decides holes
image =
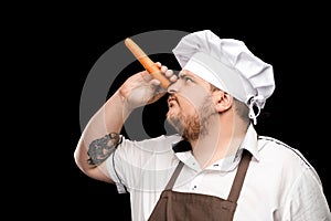
[[[247,104],[249,118],[256,124],[260,109],[275,90],[270,64],[255,56],[244,42],[220,39],[210,30],[183,36],[172,52],[183,70]]]

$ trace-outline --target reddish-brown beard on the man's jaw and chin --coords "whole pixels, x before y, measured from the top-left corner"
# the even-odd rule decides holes
[[[209,134],[209,123],[212,116],[218,114],[212,105],[211,98],[205,99],[200,109],[193,116],[178,114],[167,114],[168,123],[185,139],[197,140],[199,137]]]

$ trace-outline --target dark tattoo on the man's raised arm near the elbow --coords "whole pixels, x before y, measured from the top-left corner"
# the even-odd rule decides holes
[[[117,133],[110,133],[99,139],[95,139],[88,147],[89,165],[99,165],[105,161],[117,146],[121,143],[120,136]]]

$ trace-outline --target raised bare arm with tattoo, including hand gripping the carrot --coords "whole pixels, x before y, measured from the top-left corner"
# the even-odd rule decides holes
[[[158,65],[161,67],[161,64]],[[172,82],[177,81],[166,66],[161,67],[161,72]],[[84,173],[114,183],[104,162],[111,154],[111,146],[116,145],[116,135],[135,108],[156,102],[166,94],[164,90],[159,91],[159,84],[147,71],[139,72],[129,77],[90,118],[74,152],[75,162]]]

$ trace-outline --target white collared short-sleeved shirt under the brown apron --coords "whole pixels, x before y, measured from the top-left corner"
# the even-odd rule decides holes
[[[107,159],[107,169],[120,193],[129,191],[132,221],[146,221],[172,176],[184,162],[173,190],[227,199],[245,148],[253,155],[237,201],[235,221],[331,220],[322,183],[313,167],[296,149],[265,136],[250,125],[235,156],[201,170],[191,151],[174,152],[179,135],[141,141],[122,137]]]

